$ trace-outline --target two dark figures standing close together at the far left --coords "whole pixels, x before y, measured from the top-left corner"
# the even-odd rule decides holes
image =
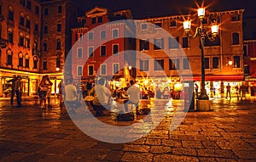
[[[20,108],[21,107],[21,95],[22,95],[21,76],[14,75],[13,79],[9,80],[8,82],[11,83],[10,104],[11,104],[11,106],[14,106],[14,98],[16,95],[17,108]]]

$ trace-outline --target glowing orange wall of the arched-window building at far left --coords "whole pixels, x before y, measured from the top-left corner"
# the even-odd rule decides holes
[[[38,1],[31,1],[29,8],[27,3],[20,3],[19,0],[1,1],[0,5],[2,8],[1,40],[6,41],[6,47],[1,47],[0,54],[0,96],[4,96],[8,87],[6,83],[13,75],[22,76],[23,94],[30,95],[37,91],[38,86],[39,57],[37,53],[41,43],[41,5]],[[38,14],[36,14],[36,6]],[[14,13],[13,20],[9,20],[9,10]],[[20,25],[20,15],[24,17],[24,25]],[[26,26],[29,24],[26,20],[30,20],[30,27]],[[38,24],[38,31],[35,30],[35,23]],[[13,42],[8,41],[9,31],[13,33]],[[20,45],[20,35],[24,36],[24,46]],[[29,46],[26,45],[26,38],[29,38]],[[35,48],[34,42],[38,42],[38,48]],[[8,53],[12,55],[12,64],[8,64]],[[21,59],[22,62],[19,63]],[[38,59],[37,68],[34,68],[34,59]]]

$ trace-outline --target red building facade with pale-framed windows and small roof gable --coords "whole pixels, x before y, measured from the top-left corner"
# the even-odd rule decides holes
[[[78,18],[82,27],[72,30],[74,78],[94,80],[104,76],[111,80],[130,75],[128,66],[136,62],[136,55],[125,52],[135,50],[135,41],[125,37],[132,32],[122,21],[127,19],[132,19],[130,10],[110,12],[99,7]]]

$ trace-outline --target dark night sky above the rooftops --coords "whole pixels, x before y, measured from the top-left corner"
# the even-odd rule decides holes
[[[134,19],[160,17],[176,14],[195,14],[202,0],[73,0],[84,11],[95,6],[108,8],[111,11],[131,9]],[[245,9],[245,17],[256,16],[255,0],[204,0],[204,6],[209,11],[224,11],[230,9]],[[209,6],[209,7],[208,7]]]

